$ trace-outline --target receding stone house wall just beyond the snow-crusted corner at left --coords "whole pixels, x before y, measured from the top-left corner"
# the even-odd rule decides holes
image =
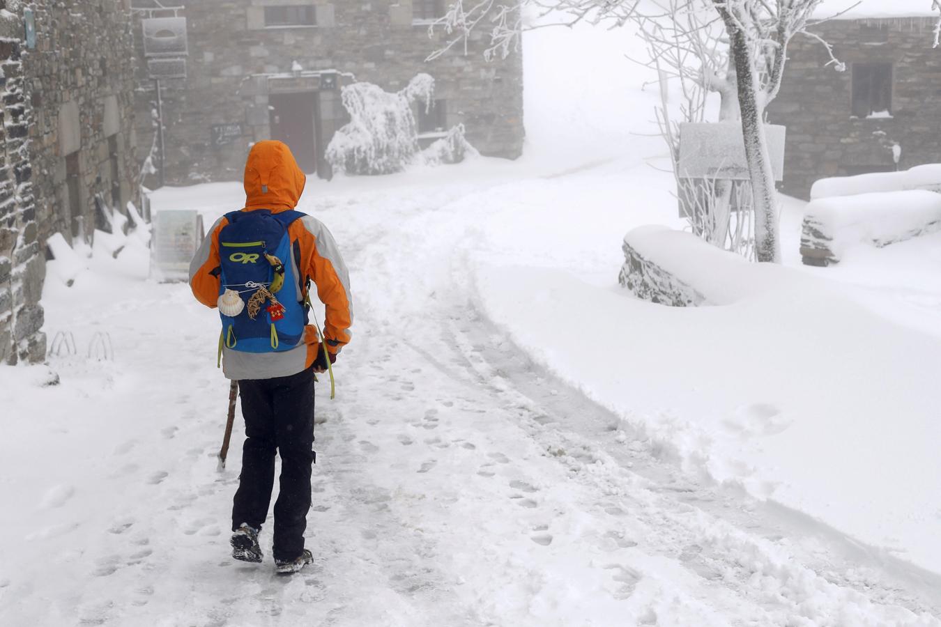
[[[134,54],[126,0],[40,0],[24,54],[40,240],[107,230],[98,204],[136,202]],[[70,195],[70,183],[72,194]]]

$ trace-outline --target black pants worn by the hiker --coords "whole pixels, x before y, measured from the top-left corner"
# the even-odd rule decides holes
[[[245,447],[242,474],[232,505],[232,530],[242,523],[262,528],[275,483],[275,449],[281,456],[275,503],[275,559],[290,560],[304,550],[311,509],[313,370],[289,377],[239,381]]]

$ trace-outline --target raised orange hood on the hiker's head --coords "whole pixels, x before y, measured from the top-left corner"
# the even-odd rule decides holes
[[[294,209],[306,182],[286,144],[258,142],[248,151],[245,164],[245,208],[272,212]]]

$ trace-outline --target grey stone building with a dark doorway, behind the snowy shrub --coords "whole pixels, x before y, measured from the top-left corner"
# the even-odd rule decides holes
[[[348,119],[341,87],[366,81],[397,91],[419,72],[436,80],[432,110],[417,112],[426,138],[463,123],[470,143],[486,155],[515,158],[521,151],[520,55],[488,63],[478,40],[468,55],[460,46],[425,62],[441,42],[438,35],[429,39],[428,24],[443,14],[444,0],[185,4],[159,9],[154,0],[134,0],[142,147],[158,143],[151,76],[185,72],[161,81],[168,183],[239,180],[249,144],[268,138],[289,144],[307,172],[329,178],[325,149]],[[186,20],[185,41],[173,42],[179,23],[172,21],[147,23],[145,38],[142,22],[174,17]],[[153,56],[162,46],[177,51],[175,61]]]

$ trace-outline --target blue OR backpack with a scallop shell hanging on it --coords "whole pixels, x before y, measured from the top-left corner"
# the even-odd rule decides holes
[[[222,345],[244,353],[290,351],[308,323],[288,227],[301,212],[226,213],[219,231]],[[298,296],[301,294],[301,296]]]

